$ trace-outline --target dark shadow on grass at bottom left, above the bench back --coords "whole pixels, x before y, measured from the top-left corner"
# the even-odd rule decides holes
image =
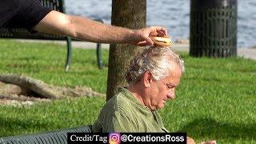
[[[0,138],[14,135],[31,134],[35,127],[38,131],[45,131],[46,127],[53,126],[50,122],[30,122],[22,121],[17,118],[0,117]]]

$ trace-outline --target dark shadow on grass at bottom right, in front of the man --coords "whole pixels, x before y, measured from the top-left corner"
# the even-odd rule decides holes
[[[195,119],[178,131],[186,131],[193,138],[254,139],[256,124],[217,122],[212,118],[202,118]]]

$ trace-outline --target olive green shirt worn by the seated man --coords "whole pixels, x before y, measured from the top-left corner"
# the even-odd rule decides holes
[[[119,87],[118,94],[102,107],[93,132],[168,132],[158,111],[151,111],[130,93]]]

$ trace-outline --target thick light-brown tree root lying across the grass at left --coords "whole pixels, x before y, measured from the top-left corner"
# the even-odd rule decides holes
[[[29,95],[30,97],[35,98],[65,98],[65,97],[81,97],[81,96],[104,96],[104,94],[97,93],[85,86],[76,86],[74,88],[69,87],[60,87],[60,86],[52,86],[48,85],[40,80],[29,78],[24,75],[18,74],[0,74],[0,82],[7,83],[7,87],[9,87],[9,91],[5,90],[5,88],[1,89],[0,85],[0,98],[7,98],[7,96],[13,93],[10,90],[10,87],[15,91],[14,94],[18,95]],[[11,86],[10,84],[14,85]],[[16,86],[16,87],[15,87]],[[20,90],[17,88],[20,88]],[[5,94],[9,93],[9,94]],[[13,98],[15,100],[26,100],[26,98],[22,97],[13,97],[10,96],[10,99]],[[30,99],[30,98],[29,98]],[[33,99],[33,98],[32,98]]]

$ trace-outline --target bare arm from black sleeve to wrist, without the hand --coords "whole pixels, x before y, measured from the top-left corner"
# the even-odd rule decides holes
[[[34,30],[49,34],[67,35],[89,42],[124,43],[129,42],[133,30],[103,24],[89,18],[72,16],[51,11]]]

